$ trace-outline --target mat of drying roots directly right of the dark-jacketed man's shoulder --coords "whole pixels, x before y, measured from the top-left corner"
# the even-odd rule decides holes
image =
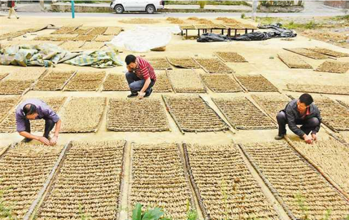
[[[326,126],[337,131],[349,131],[349,109],[327,97],[316,99],[314,103]]]

